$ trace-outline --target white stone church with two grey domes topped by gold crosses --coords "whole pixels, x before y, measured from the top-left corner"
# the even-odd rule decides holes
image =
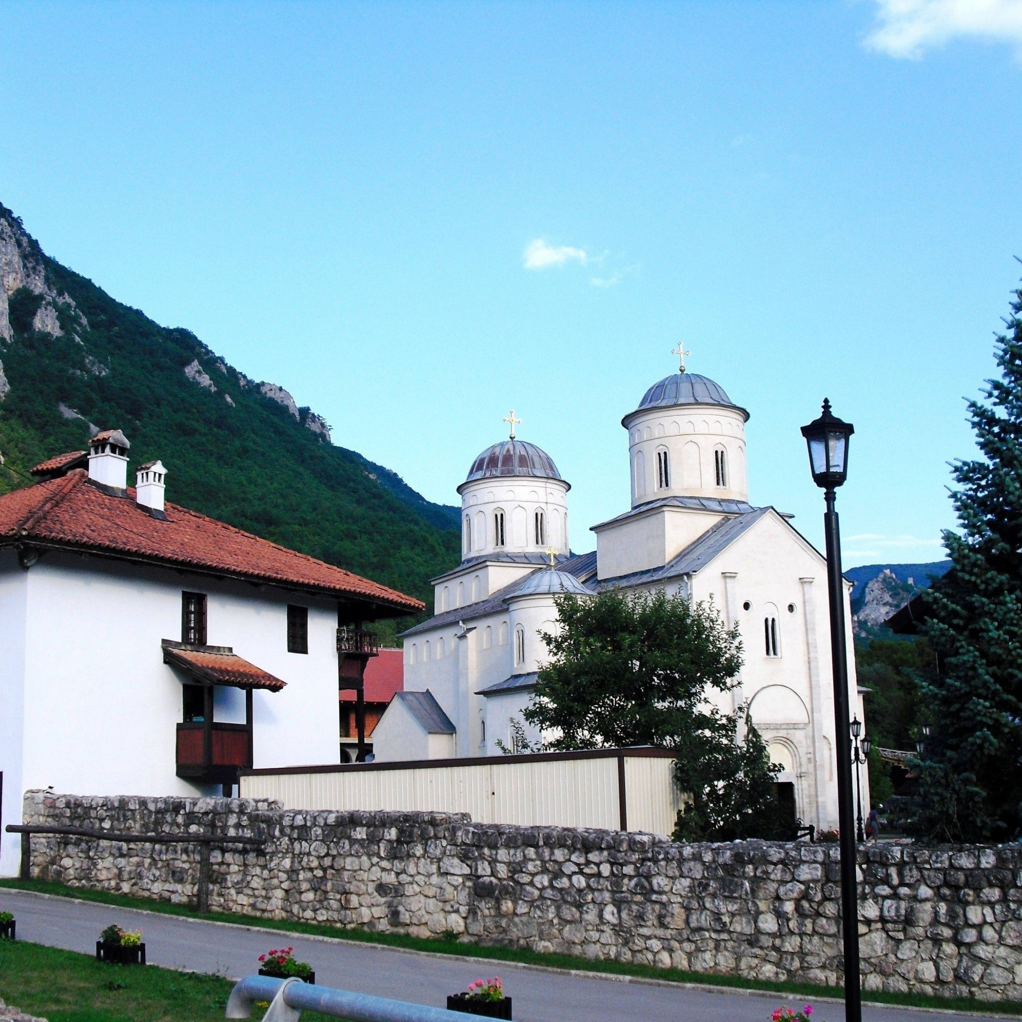
[[[728,711],[748,706],[795,815],[836,827],[827,565],[790,516],[748,502],[748,419],[684,364],[653,384],[621,420],[632,507],[594,526],[595,552],[574,555],[570,486],[548,454],[515,438],[512,412],[510,438],[483,451],[458,487],[462,561],[434,579],[434,616],[404,635],[405,691],[376,726],[375,759],[500,755],[515,747],[514,722],[542,741],[522,712],[545,663],[542,633],[556,628],[555,596],[662,588],[712,599],[738,624],[739,684],[711,698]],[[849,704],[862,721],[849,592]]]

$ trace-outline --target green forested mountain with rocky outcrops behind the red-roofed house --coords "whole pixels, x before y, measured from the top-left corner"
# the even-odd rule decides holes
[[[457,508],[335,447],[282,386],[249,379],[47,257],[0,205],[0,493],[117,427],[160,458],[168,500],[431,602],[460,558]],[[131,478],[131,476],[129,476]]]

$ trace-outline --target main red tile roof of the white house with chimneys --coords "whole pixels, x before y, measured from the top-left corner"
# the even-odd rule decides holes
[[[103,493],[84,469],[0,497],[0,546],[80,550],[205,573],[277,584],[375,604],[372,612],[416,613],[421,601],[250,532],[168,504],[153,518],[128,497]]]

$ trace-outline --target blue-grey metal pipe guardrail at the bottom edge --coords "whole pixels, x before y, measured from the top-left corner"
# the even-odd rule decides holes
[[[240,980],[227,1002],[227,1018],[248,1018],[258,1001],[270,1002],[263,1022],[297,1022],[303,1011],[351,1019],[351,1022],[464,1022],[465,1018],[460,1012],[449,1012],[446,1008],[271,976],[246,976]]]

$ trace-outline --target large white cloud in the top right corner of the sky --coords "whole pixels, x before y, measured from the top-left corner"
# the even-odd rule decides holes
[[[877,25],[866,46],[918,60],[958,38],[1015,43],[1022,52],[1022,0],[876,0]]]

